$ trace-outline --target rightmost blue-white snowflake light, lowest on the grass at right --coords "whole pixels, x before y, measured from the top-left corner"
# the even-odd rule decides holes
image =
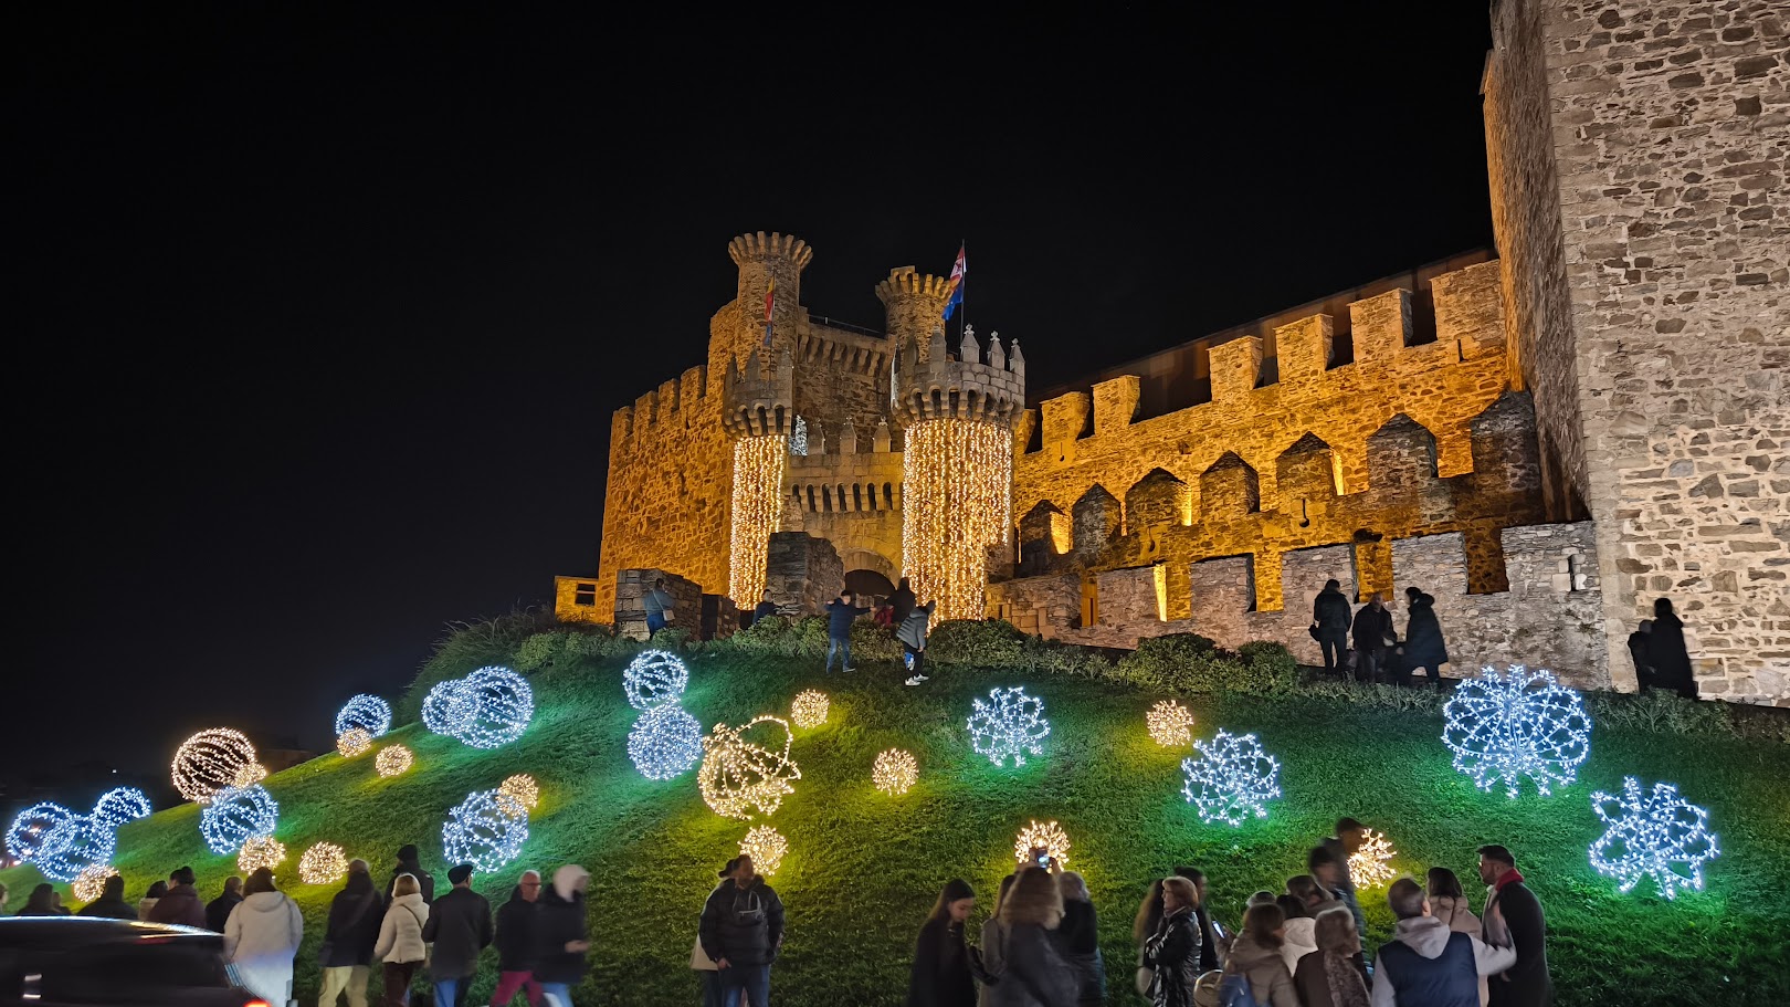
[[[1672,783],[1654,783],[1641,794],[1641,781],[1622,778],[1622,794],[1591,794],[1591,810],[1607,830],[1591,844],[1591,869],[1616,878],[1624,894],[1652,876],[1659,894],[1674,899],[1679,889],[1702,891],[1702,865],[1722,851],[1709,831],[1709,812],[1679,797]]]

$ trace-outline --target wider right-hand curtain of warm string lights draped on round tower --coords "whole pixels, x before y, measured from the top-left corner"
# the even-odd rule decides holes
[[[902,566],[936,620],[983,618],[988,548],[1008,541],[1013,432],[990,419],[915,423],[902,452]]]

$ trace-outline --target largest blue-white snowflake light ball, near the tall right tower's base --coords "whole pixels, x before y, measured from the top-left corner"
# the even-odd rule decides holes
[[[1530,690],[1532,684],[1541,688]],[[1547,670],[1529,672],[1491,665],[1480,677],[1455,688],[1443,706],[1443,744],[1453,753],[1457,770],[1480,790],[1504,781],[1516,797],[1527,776],[1545,796],[1550,787],[1572,785],[1579,765],[1591,754],[1591,717],[1584,699],[1554,681]]]

